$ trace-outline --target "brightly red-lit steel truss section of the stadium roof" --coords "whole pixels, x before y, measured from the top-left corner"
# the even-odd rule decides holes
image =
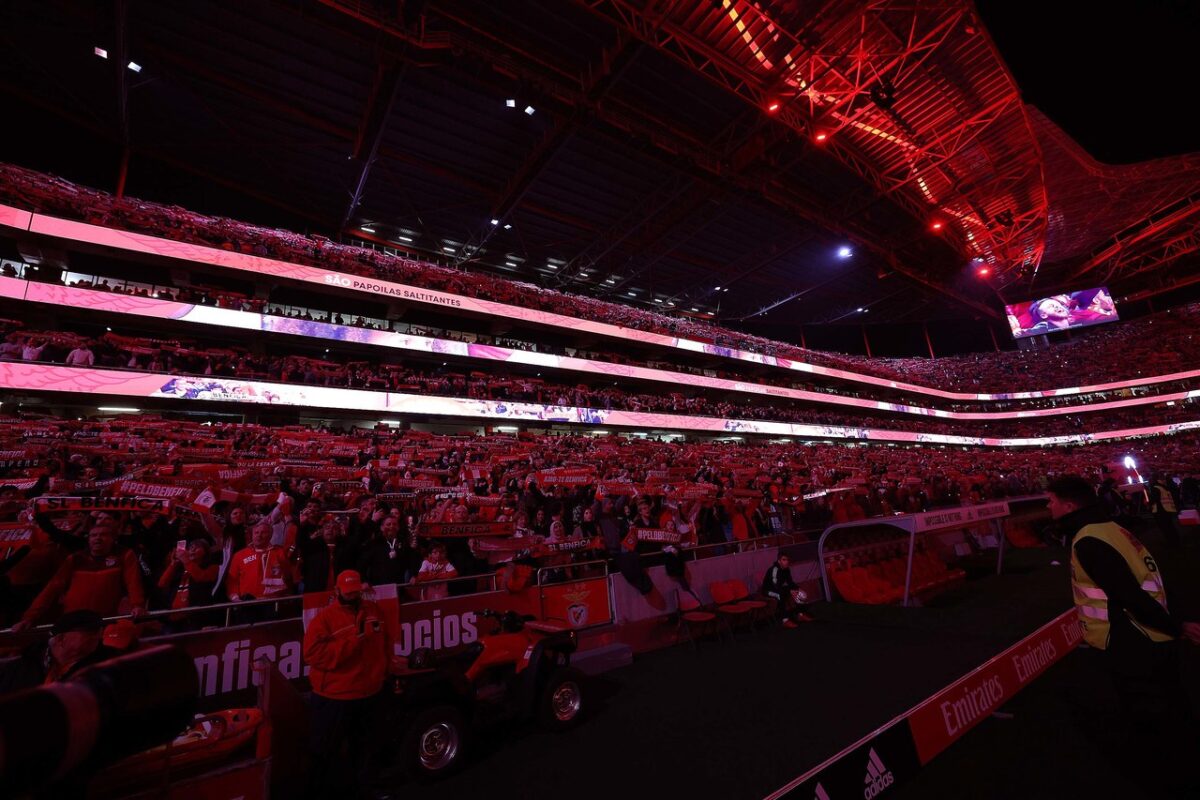
[[[823,144],[1000,276],[1033,275],[1049,216],[1031,120],[966,0],[577,0]]]

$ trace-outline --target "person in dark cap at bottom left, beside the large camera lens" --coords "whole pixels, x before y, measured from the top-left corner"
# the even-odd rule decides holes
[[[0,661],[0,696],[71,678],[119,652],[102,642],[103,618],[94,610],[62,614],[49,642],[35,642],[19,656]]]

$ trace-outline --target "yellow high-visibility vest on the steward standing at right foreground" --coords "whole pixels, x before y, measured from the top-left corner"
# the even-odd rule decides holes
[[[1072,542],[1070,588],[1075,595],[1075,610],[1079,614],[1079,628],[1084,633],[1084,640],[1093,648],[1106,650],[1110,630],[1109,597],[1103,589],[1096,585],[1096,582],[1079,563],[1079,557],[1075,555],[1074,545],[1088,536],[1100,540],[1120,553],[1142,590],[1158,601],[1163,608],[1166,608],[1166,590],[1163,588],[1163,576],[1158,571],[1158,564],[1154,563],[1154,558],[1142,543],[1134,539],[1133,534],[1115,522],[1084,525]],[[1170,633],[1142,625],[1134,619],[1128,609],[1124,610],[1124,614],[1129,622],[1151,642],[1170,642],[1175,638]]]

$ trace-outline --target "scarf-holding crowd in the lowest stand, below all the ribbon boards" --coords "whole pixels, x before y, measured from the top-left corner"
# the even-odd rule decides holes
[[[1184,485],[1200,474],[1190,435],[1007,452],[434,437],[145,416],[0,422],[0,589],[4,621],[18,627],[78,609],[178,612],[319,591],[350,567],[377,584],[404,584],[413,599],[473,591],[478,576],[515,559],[551,559],[542,563],[563,570],[612,559],[628,572],[629,559],[662,558],[664,547],[719,553],[830,522],[1038,493],[1063,473],[1099,483],[1130,453]],[[89,512],[96,498],[113,495],[170,505]],[[511,524],[500,539],[425,535],[445,522]],[[674,540],[630,543],[631,528]],[[586,547],[539,552],[568,541]],[[263,613],[274,612],[251,604],[244,618]],[[176,614],[166,624],[210,621]]]

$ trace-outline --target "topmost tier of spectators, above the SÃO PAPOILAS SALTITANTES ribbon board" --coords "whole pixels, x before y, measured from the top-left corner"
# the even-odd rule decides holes
[[[1195,308],[1184,309],[1174,317],[1163,314],[1134,324],[1091,329],[1050,350],[989,353],[942,359],[870,359],[811,350],[724,329],[691,317],[670,315],[491,275],[450,269],[367,247],[341,245],[319,235],[269,229],[133,198],[114,198],[104,192],[12,164],[5,164],[0,169],[0,200],[94,224],[286,261],[319,265],[322,269],[408,282],[430,289],[881,378],[924,381],[941,389],[989,392],[1038,390],[1165,373],[1198,361],[1196,345],[1192,344],[1190,335],[1198,313]],[[1098,351],[1112,353],[1114,356],[1097,359],[1094,356]]]

